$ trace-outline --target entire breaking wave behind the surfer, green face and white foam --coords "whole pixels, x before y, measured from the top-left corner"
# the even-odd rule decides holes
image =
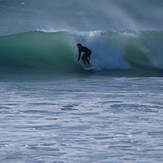
[[[77,43],[92,50],[96,70],[163,69],[163,31],[31,31],[0,37],[1,72],[82,71]]]

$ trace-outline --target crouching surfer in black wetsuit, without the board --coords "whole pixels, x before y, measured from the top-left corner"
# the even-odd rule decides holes
[[[88,49],[85,46],[82,46],[82,44],[77,44],[76,45],[78,47],[78,51],[79,51],[79,55],[78,55],[78,61],[80,60],[81,57],[81,52],[84,52],[83,56],[82,56],[82,60],[84,63],[88,63],[88,65],[90,65],[90,55],[92,54],[92,51],[90,49]]]

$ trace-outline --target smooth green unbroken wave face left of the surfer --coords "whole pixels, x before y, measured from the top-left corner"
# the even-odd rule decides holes
[[[52,70],[74,65],[68,33],[27,32],[0,38],[0,67]]]

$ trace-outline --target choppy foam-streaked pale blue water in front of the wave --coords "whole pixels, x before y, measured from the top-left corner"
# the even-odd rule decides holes
[[[162,162],[162,78],[1,82],[1,162]]]

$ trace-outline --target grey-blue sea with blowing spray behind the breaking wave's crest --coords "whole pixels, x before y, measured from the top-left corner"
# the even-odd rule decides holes
[[[162,6],[162,0],[1,0],[0,36],[36,29],[162,30]]]

